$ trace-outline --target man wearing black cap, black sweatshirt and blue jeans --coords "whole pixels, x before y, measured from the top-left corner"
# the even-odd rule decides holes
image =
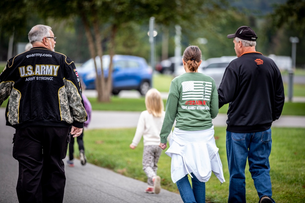
[[[255,51],[257,35],[250,27],[241,26],[228,38],[234,38],[238,57],[226,68],[218,89],[219,108],[229,103],[228,202],[246,202],[247,158],[259,202],[275,202],[271,198],[269,155],[271,124],[280,117],[285,100],[282,76],[273,60]]]

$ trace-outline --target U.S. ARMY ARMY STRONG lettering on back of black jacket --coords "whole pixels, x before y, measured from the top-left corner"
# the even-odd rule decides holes
[[[31,81],[35,79],[53,80],[53,77],[50,76],[57,76],[58,69],[59,65],[36,65],[35,68],[33,68],[33,66],[31,65],[28,65],[27,67],[19,67],[19,72],[20,77],[27,77],[26,81]],[[45,77],[38,77],[38,75],[44,75]]]

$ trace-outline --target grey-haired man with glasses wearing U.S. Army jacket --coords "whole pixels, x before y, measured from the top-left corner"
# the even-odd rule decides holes
[[[0,75],[0,105],[9,97],[6,125],[16,129],[16,192],[22,203],[60,203],[69,132],[81,135],[87,114],[74,62],[54,51],[51,27],[36,25],[28,37],[33,48],[9,59]]]

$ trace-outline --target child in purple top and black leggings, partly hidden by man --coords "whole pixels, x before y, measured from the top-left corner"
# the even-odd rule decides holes
[[[87,112],[87,116],[88,119],[87,121],[84,122],[84,127],[88,127],[90,121],[91,121],[91,112],[92,112],[92,107],[91,107],[91,103],[88,100],[88,98],[86,97],[86,95],[84,94],[84,91],[86,89],[86,85],[84,84],[84,82],[82,82],[81,80],[81,87],[82,87],[82,96],[83,96],[83,100],[84,100],[84,105],[85,105],[85,110]],[[83,141],[83,137],[84,137],[84,130],[81,133],[80,136],[77,136],[76,140],[77,140],[77,144],[78,144],[78,149],[79,149],[79,159],[81,161],[81,165],[85,165],[87,163],[87,158],[85,155],[85,149],[84,149],[84,141]],[[71,138],[70,140],[70,144],[69,144],[69,160],[67,161],[68,166],[70,167],[74,167],[74,138]]]

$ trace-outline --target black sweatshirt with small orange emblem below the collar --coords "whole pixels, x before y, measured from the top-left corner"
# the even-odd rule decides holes
[[[227,131],[264,131],[282,113],[285,96],[281,73],[259,52],[242,54],[228,65],[218,89],[219,108],[229,103]]]

